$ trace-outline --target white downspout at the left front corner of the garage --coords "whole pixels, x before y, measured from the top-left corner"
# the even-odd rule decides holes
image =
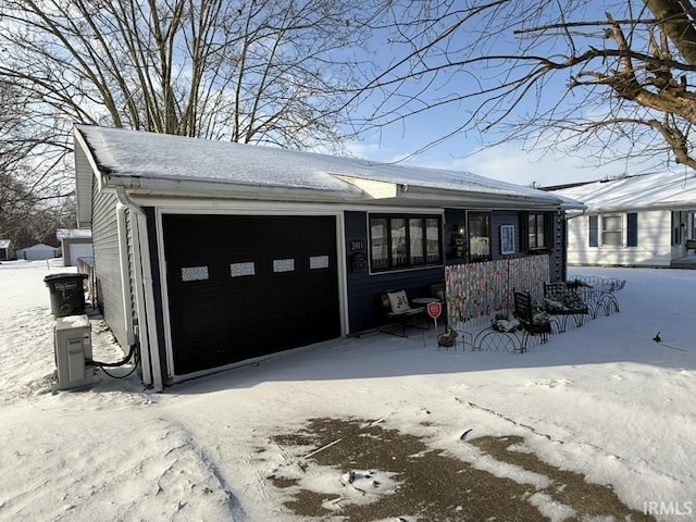
[[[141,243],[144,236],[141,231],[147,231],[147,219],[142,209],[130,200],[123,186],[116,186],[116,196],[119,203],[116,204],[117,231],[119,231],[119,253],[121,258],[121,285],[123,290],[123,306],[126,314],[126,334],[128,343],[135,343],[133,332],[133,309],[130,303],[130,288],[128,286],[128,237],[126,234],[126,209],[135,212],[135,220],[132,220],[134,245],[136,251],[139,252],[140,270],[135,271],[136,291],[138,302],[138,323],[140,328],[140,349],[142,376],[145,384],[151,384],[156,391],[163,389],[162,372],[160,364],[160,352],[157,339],[157,319],[154,314],[154,291],[152,289],[152,271],[150,269],[150,249],[147,244],[147,234],[145,234],[145,244]],[[145,291],[145,299],[142,299]],[[144,330],[145,335],[144,335]]]

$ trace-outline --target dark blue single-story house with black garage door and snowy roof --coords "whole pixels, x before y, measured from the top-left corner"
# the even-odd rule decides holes
[[[374,330],[380,296],[452,263],[548,256],[582,204],[482,176],[77,125],[98,306],[161,388]],[[501,241],[504,237],[504,241]]]

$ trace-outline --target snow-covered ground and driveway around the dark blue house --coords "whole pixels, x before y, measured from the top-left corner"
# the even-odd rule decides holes
[[[376,334],[163,394],[144,390],[136,375],[103,373],[88,390],[51,394],[53,319],[42,279],[69,270],[0,264],[0,520],[295,521],[307,520],[284,507],[296,488],[270,477],[345,506],[398,489],[402,477],[373,470],[382,488],[352,497],[360,489],[312,461],[315,449],[302,457],[278,442],[312,419],[374,420],[542,492],[544,477],[469,444],[519,436],[520,451],[610,485],[633,510],[696,520],[696,271],[572,269],[625,278],[621,313],[524,355],[438,351],[433,331]],[[95,359],[123,357],[100,321],[92,346]],[[451,520],[467,499],[462,490]],[[527,501],[538,520],[576,514],[545,493]],[[417,520],[406,510],[402,520]]]

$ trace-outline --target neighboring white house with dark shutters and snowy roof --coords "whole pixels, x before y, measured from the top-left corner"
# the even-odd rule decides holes
[[[696,238],[696,177],[625,176],[549,189],[584,202],[569,212],[569,265],[670,266]]]

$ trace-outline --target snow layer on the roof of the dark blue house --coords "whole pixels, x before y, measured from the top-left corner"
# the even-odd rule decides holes
[[[468,172],[376,163],[279,148],[77,125],[99,167],[140,178],[206,181],[356,192],[338,176],[413,187],[531,197],[558,196]]]

